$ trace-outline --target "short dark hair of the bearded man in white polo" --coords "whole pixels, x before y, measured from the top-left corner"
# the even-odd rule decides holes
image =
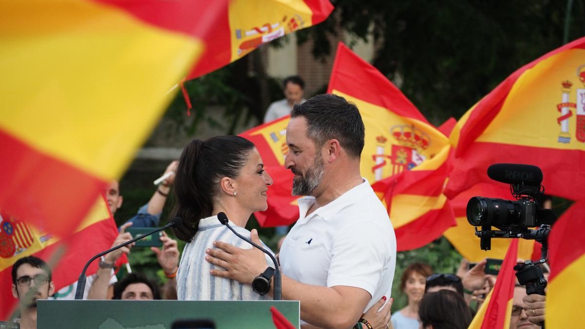
[[[291,118],[297,116],[307,120],[307,135],[317,148],[337,139],[349,156],[362,155],[366,129],[355,104],[338,95],[316,95],[302,104],[294,104]]]

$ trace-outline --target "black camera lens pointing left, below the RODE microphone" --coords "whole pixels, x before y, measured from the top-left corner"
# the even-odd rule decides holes
[[[518,225],[522,215],[519,201],[473,197],[467,203],[467,221],[473,226]]]

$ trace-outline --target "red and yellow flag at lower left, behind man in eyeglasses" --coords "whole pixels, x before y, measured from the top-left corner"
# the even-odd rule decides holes
[[[104,197],[99,197],[77,231],[67,238],[59,239],[50,232],[27,224],[16,217],[0,213],[0,319],[8,319],[17,301],[12,297],[12,265],[25,256],[37,256],[49,261],[61,247],[66,253],[53,269],[56,290],[77,281],[85,263],[98,252],[112,246],[118,228],[109,213]],[[93,262],[87,274],[98,270]]]

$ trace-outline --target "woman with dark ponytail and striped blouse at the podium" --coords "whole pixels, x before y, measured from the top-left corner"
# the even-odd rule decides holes
[[[236,237],[217,214],[228,215],[230,225],[245,237],[246,222],[254,211],[268,207],[266,191],[272,184],[264,171],[260,153],[249,140],[239,136],[218,136],[192,140],[183,150],[175,177],[177,204],[174,215],[183,218],[175,229],[185,245],[177,273],[180,300],[262,300],[265,296],[249,285],[211,276],[216,268],[205,261],[205,249],[216,240],[239,248],[252,248]],[[264,248],[267,248],[264,246]],[[266,258],[269,266],[274,264]]]

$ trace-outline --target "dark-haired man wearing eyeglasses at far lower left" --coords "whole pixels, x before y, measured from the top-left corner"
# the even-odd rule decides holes
[[[20,258],[12,266],[12,296],[19,300],[21,329],[37,327],[37,300],[55,292],[51,269],[35,256]]]

